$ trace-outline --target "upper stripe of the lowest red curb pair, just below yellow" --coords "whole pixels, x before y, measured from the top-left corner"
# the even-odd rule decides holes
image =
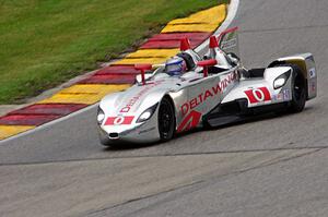
[[[67,116],[85,108],[84,104],[36,104],[12,111],[8,114],[58,114]]]

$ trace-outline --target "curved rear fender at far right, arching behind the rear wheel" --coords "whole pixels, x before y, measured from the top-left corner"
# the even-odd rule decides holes
[[[315,60],[312,53],[301,53],[284,58],[279,58],[271,62],[268,68],[273,68],[281,64],[296,64],[306,81],[306,99],[313,99],[317,96],[317,71]]]

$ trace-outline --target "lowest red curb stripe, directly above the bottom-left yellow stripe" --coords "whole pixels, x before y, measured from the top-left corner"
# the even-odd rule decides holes
[[[60,118],[55,114],[7,114],[0,118],[0,124],[4,125],[42,125]]]

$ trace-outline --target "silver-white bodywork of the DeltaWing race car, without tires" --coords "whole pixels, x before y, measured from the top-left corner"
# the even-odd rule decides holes
[[[200,60],[192,50],[186,52],[192,56],[195,62]],[[316,96],[317,73],[311,53],[279,59],[274,61],[276,67],[265,69],[261,77],[248,79],[243,76],[244,68],[239,61],[236,62],[219,48],[210,50],[207,56],[219,62],[207,77],[199,67],[181,76],[169,76],[164,72],[164,67],[160,67],[152,74],[147,74],[145,85],[137,76],[132,87],[104,97],[99,104],[104,119],[98,124],[102,143],[160,141],[157,114],[163,97],[168,97],[174,106],[176,133],[203,125],[208,114],[220,105],[244,100],[247,101],[247,109],[253,109],[291,101],[292,75],[286,81],[277,81],[291,68],[279,67],[279,62],[300,65],[307,82],[307,99]],[[282,86],[274,88],[279,83]],[[155,108],[152,116],[138,122],[149,108]]]

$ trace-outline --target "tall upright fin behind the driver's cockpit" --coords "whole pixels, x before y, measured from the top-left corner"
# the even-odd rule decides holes
[[[219,47],[225,53],[234,53],[239,57],[238,27],[229,28],[219,36]]]

